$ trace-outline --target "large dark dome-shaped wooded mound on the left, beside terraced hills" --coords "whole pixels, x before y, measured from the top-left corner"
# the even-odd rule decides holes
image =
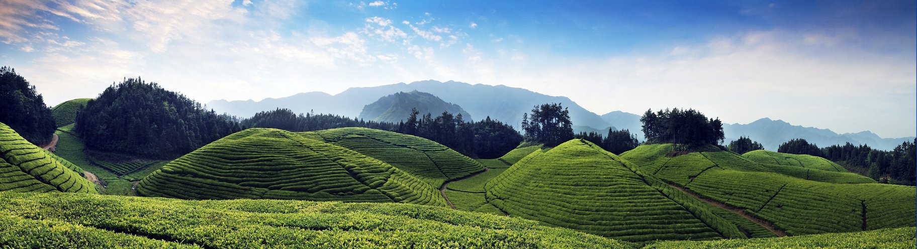
[[[172,158],[239,130],[231,117],[207,111],[156,83],[112,84],[76,116],[76,134],[93,150]]]

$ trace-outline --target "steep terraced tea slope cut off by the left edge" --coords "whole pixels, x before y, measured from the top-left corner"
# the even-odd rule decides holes
[[[32,145],[0,123],[0,190],[97,192],[92,182],[71,169],[75,166],[61,162],[66,161]]]

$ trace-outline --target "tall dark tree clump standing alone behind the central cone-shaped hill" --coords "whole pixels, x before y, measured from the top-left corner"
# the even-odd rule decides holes
[[[543,103],[534,107],[532,114],[522,116],[525,141],[558,146],[573,139],[573,123],[567,108],[560,103]]]

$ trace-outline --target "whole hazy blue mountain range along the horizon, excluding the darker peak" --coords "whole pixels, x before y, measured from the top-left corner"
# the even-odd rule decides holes
[[[469,84],[458,81],[414,81],[396,83],[377,87],[355,87],[335,95],[326,92],[303,92],[283,98],[268,98],[260,102],[215,100],[207,103],[217,113],[249,117],[255,113],[275,108],[289,108],[294,113],[315,112],[316,114],[340,114],[357,117],[367,104],[395,92],[429,92],[447,103],[458,104],[468,114],[481,120],[486,116],[513,124],[517,129],[522,122],[522,114],[529,113],[532,107],[541,103],[563,103],[569,108],[570,120],[577,132],[599,131],[602,135],[607,127],[629,129],[637,138],[643,140],[640,115],[620,111],[608,114],[592,113],[564,96],[550,96],[522,88],[504,85]],[[410,108],[408,108],[410,110]],[[436,112],[438,113],[438,112]],[[471,119],[466,118],[466,121]],[[880,150],[890,150],[901,142],[911,141],[913,136],[900,138],[882,138],[869,131],[859,133],[837,134],[828,129],[802,127],[781,120],[761,118],[750,124],[724,124],[726,142],[741,135],[751,137],[768,150],[777,147],[792,138],[804,138],[818,146],[868,145]]]

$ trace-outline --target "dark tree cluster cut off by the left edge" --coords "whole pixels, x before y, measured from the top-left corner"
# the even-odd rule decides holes
[[[54,134],[54,116],[41,94],[10,67],[0,67],[0,122],[28,142],[44,145]]]

